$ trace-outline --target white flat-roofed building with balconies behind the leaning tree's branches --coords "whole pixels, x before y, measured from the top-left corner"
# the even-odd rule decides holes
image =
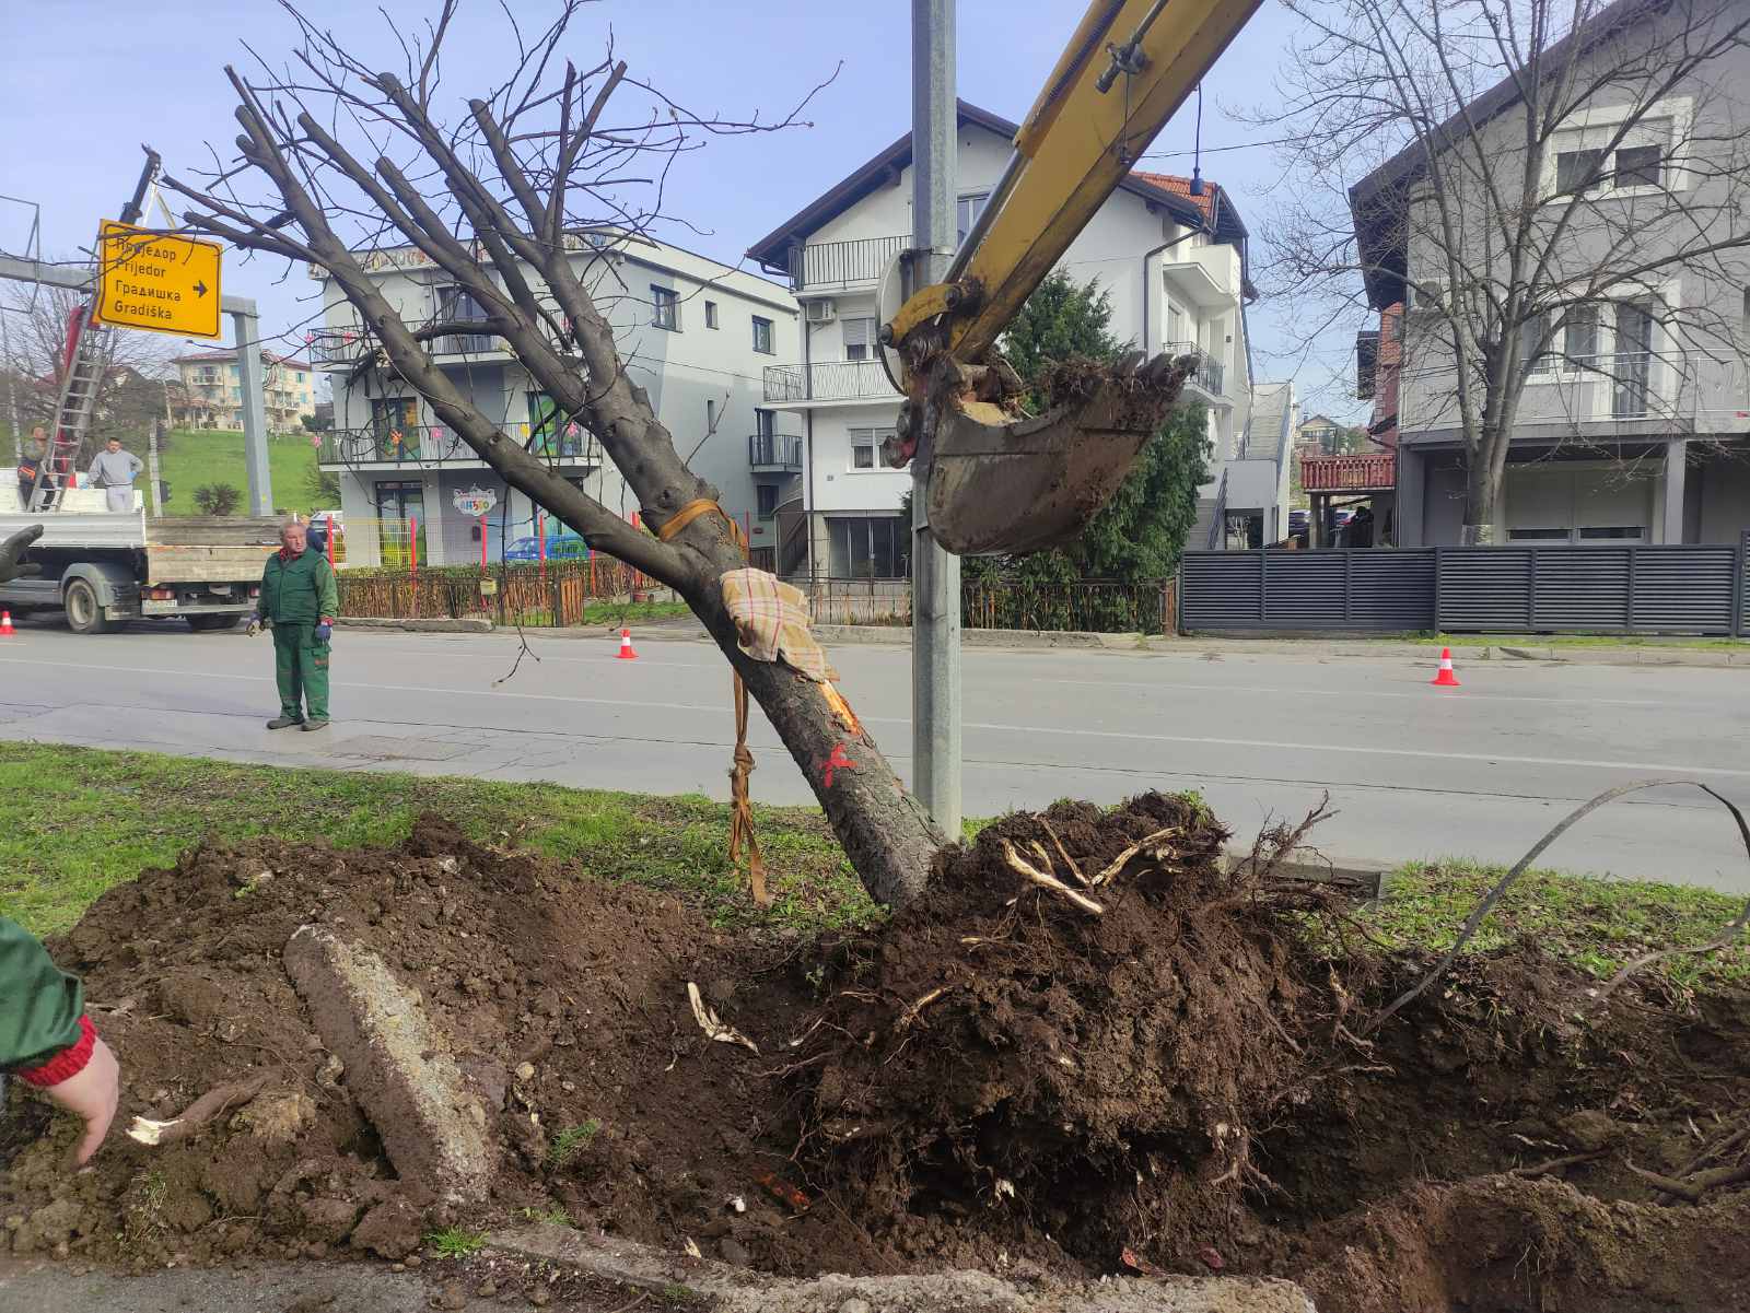
[[[800,350],[796,299],[780,285],[704,255],[626,233],[578,233],[574,267],[614,329],[632,379],[649,393],[681,456],[719,490],[742,521],[754,561],[774,561],[772,512],[802,472],[800,425],[763,404],[763,365]],[[472,299],[413,247],[373,250],[366,267],[402,318],[483,318]],[[539,276],[525,278],[541,287]],[[341,483],[348,565],[396,563],[413,535],[422,563],[497,561],[532,549],[536,512],[430,414],[326,281],[326,327],[310,353],[334,381],[334,430],[320,463]],[[556,414],[502,339],[452,334],[432,358],[506,434],[628,518],[637,500],[597,441]],[[366,531],[360,531],[364,528]],[[551,540],[558,526],[544,525]]]

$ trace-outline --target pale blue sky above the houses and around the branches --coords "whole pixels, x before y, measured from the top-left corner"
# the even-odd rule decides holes
[[[546,0],[511,0],[525,31],[544,26]],[[408,26],[436,12],[436,0],[387,0]],[[336,31],[357,33],[357,51],[385,68],[401,51],[374,5],[357,0],[304,0],[303,9]],[[961,0],[959,94],[1018,119],[1062,51],[1083,5],[1078,0]],[[686,215],[698,234],[670,234],[679,245],[735,262],[747,245],[886,147],[908,126],[910,30],[903,0],[826,7],[802,0],[600,0],[574,24],[574,58],[600,58],[612,28],[616,52],[635,73],[696,110],[746,115],[786,110],[808,86],[838,68],[807,117],[812,128],[712,143],[688,156],[668,187],[668,212]],[[1253,234],[1267,226],[1269,189],[1279,177],[1260,133],[1232,121],[1230,105],[1270,94],[1270,75],[1292,19],[1267,0],[1204,84],[1204,177],[1225,184]],[[228,61],[248,61],[248,42],[273,61],[290,49],[294,30],[271,0],[159,0],[147,9],[114,0],[19,0],[7,14],[0,47],[0,192],[42,206],[42,250],[68,257],[89,247],[100,219],[116,217],[140,168],[140,142],[156,147],[172,173],[206,163],[206,142],[226,156],[236,135]],[[452,37],[444,77],[457,94],[472,94],[513,63],[514,45],[494,0],[467,0]],[[842,65],[842,66],[840,66]],[[474,72],[478,68],[478,73]],[[1190,173],[1192,105],[1162,131],[1148,168]],[[1223,147],[1244,149],[1223,149]],[[30,212],[0,203],[0,248],[23,254]],[[254,295],[268,332],[287,332],[312,313],[315,283],[280,280],[284,262],[229,255],[224,290]],[[1346,379],[1353,339],[1321,343],[1320,358],[1300,362],[1286,350],[1290,306],[1251,306],[1256,376],[1292,376],[1307,413],[1353,414],[1332,379]],[[1348,325],[1349,329],[1360,325]],[[1344,383],[1346,386],[1346,383]]]

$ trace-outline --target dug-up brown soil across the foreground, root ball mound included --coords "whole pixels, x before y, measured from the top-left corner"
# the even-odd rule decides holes
[[[1750,1192],[1673,1205],[1631,1164],[1682,1173],[1745,1124],[1750,998],[1631,981],[1592,1005],[1519,946],[1374,1033],[1428,963],[1372,949],[1270,844],[1223,869],[1225,837],[1176,797],[1059,804],[819,942],[718,934],[439,818],[394,851],[196,848],[52,948],[121,1056],[119,1128],[262,1080],[178,1143],[117,1129],[79,1175],[72,1128],[14,1089],[12,1250],[399,1259],[539,1215],[784,1275],[1269,1273],[1325,1313],[1746,1306]],[[488,1108],[485,1198],[397,1175],[282,965],[310,923],[422,997]],[[688,983],[758,1052],[709,1039]]]

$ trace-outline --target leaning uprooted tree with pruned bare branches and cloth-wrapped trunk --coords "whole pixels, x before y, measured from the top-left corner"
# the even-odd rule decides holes
[[[628,295],[614,281],[612,250],[665,220],[663,182],[676,159],[710,136],[798,124],[800,107],[775,121],[712,119],[639,80],[611,51],[578,68],[562,51],[576,45],[583,0],[562,0],[530,42],[506,10],[518,66],[457,105],[452,121],[439,86],[457,0],[418,38],[397,33],[399,73],[373,70],[285,7],[299,28],[290,63],[262,65],[256,79],[226,70],[243,128],[240,157],[196,182],[164,178],[194,203],[184,222],[327,271],[371,346],[509,486],[592,547],[676,589],[802,766],[870,895],[887,904],[915,895],[943,836],[830,684],[740,650],[719,580],[746,565],[742,547],[721,516],[700,514],[716,490],[686,467],[628,376],[607,313]],[[467,315],[410,323],[368,269],[385,247],[411,247],[448,274],[472,302]],[[567,483],[476,407],[430,351],[458,332],[504,341],[569,421],[600,441],[654,535]]]

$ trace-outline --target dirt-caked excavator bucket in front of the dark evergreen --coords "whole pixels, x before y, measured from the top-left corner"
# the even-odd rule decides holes
[[[936,542],[956,556],[1018,556],[1071,542],[1136,465],[1178,400],[1188,367],[1155,357],[1138,369],[1060,371],[1043,416],[989,402],[936,407],[928,512]]]

